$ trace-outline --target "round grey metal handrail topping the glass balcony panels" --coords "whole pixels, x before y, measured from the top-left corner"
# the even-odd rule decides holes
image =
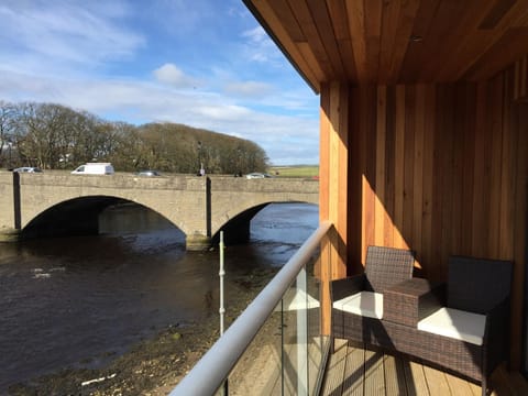
[[[331,227],[330,221],[319,224],[253,302],[170,392],[170,396],[210,396],[217,392]]]

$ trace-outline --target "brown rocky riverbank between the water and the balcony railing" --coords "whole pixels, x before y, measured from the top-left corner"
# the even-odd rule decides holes
[[[226,314],[231,323],[275,274],[255,270],[235,279]],[[10,395],[167,395],[219,337],[219,318],[173,324],[101,369],[67,369],[9,387]],[[111,356],[110,356],[111,358]],[[86,362],[89,363],[89,362]]]

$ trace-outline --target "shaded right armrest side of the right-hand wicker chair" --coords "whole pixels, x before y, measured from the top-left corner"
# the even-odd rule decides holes
[[[486,314],[484,371],[491,372],[509,359],[509,298],[505,298]]]

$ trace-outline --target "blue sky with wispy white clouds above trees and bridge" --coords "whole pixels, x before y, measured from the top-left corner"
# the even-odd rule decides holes
[[[175,122],[317,164],[319,97],[242,0],[1,0],[0,101]]]

